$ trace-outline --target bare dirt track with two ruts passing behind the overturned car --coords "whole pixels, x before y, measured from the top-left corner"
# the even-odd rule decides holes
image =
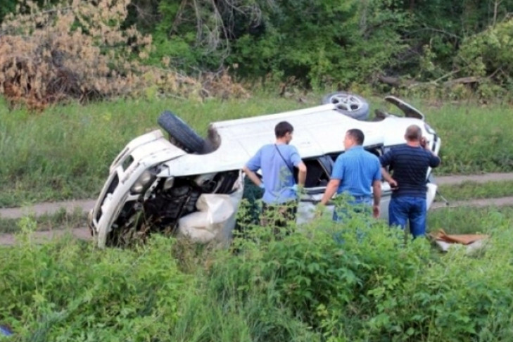
[[[462,182],[505,182],[513,180],[513,173],[488,173],[483,175],[468,175],[468,176],[445,176],[436,177],[436,183],[442,184],[460,184]],[[0,209],[0,218],[3,219],[16,219],[23,217],[24,215],[44,215],[56,213],[58,210],[65,210],[68,213],[72,213],[75,210],[82,210],[87,213],[94,206],[95,200],[81,200],[81,201],[65,201],[65,202],[54,202],[54,203],[37,203],[26,208],[4,208]],[[456,208],[463,206],[471,207],[484,207],[488,205],[493,206],[505,206],[513,205],[513,196],[502,197],[502,198],[486,198],[476,199],[470,201],[454,201],[448,205],[443,201],[437,201],[431,206],[432,210],[438,210],[440,208]],[[77,228],[77,229],[54,229],[48,232],[35,232],[34,239],[36,241],[45,241],[52,239],[54,236],[62,236],[70,232],[78,239],[91,239],[91,233],[88,228]],[[0,234],[0,245],[13,245],[15,238],[13,234]]]

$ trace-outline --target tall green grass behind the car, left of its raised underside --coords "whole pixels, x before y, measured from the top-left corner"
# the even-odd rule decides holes
[[[294,108],[300,108],[297,101],[265,96],[205,103],[118,101],[58,106],[38,114],[9,112],[0,105],[0,207],[96,196],[113,158],[131,139],[158,129],[163,110],[204,134],[215,120]]]

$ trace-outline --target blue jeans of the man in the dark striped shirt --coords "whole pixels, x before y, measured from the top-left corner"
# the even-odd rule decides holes
[[[410,232],[413,237],[426,234],[426,198],[400,196],[393,197],[388,205],[388,224],[405,229],[410,220]]]

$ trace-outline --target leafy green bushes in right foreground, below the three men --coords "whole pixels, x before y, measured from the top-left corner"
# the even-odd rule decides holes
[[[512,238],[502,217],[488,219],[493,242],[474,258],[463,249],[433,255],[424,239],[405,243],[401,232],[359,215],[282,240],[255,227],[260,239],[236,241],[236,256],[216,260],[210,284],[221,303],[272,296],[327,341],[502,341],[512,333]]]

